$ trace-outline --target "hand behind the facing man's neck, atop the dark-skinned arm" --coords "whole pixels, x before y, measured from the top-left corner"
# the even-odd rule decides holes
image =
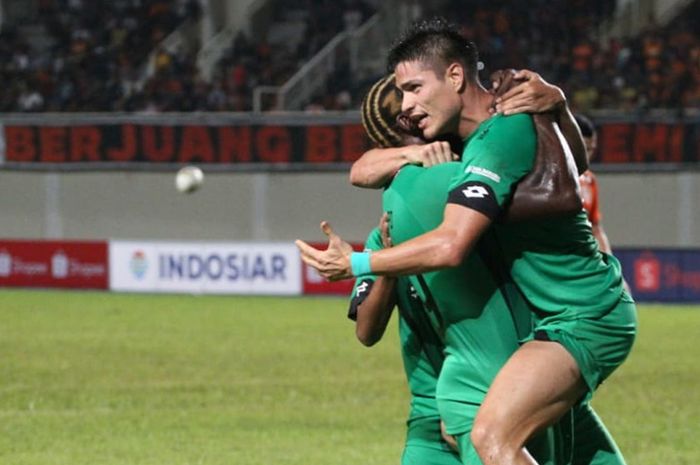
[[[495,110],[498,113],[543,113],[566,105],[564,92],[533,71],[516,71],[513,80],[522,82],[496,98]]]

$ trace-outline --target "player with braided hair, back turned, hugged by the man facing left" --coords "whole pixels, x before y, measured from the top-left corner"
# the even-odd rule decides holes
[[[394,87],[393,75],[387,76],[377,82],[365,97],[362,104],[362,123],[376,146],[386,148],[410,144],[415,150],[425,145],[425,141],[411,135],[408,129],[395,127],[400,104],[401,100]],[[419,152],[419,150],[415,151]],[[449,148],[448,153],[450,153]],[[451,157],[445,158],[449,160]],[[548,162],[557,161],[556,157],[549,154],[545,158]],[[392,169],[392,161],[390,159],[388,161],[388,164],[383,164],[383,171]],[[384,199],[385,208],[395,210],[400,218],[396,223],[400,225],[395,231],[397,237],[401,238],[406,234],[417,235],[439,224],[442,206],[447,196],[445,185],[454,176],[458,167],[457,163],[442,165],[431,170],[407,167],[399,173],[396,181],[388,188]],[[572,176],[572,179],[575,178]],[[414,187],[419,188],[414,189]],[[575,182],[566,188],[575,188]],[[549,187],[549,189],[552,188]],[[561,195],[563,190],[559,189],[556,193]],[[537,196],[540,192],[541,189],[537,187],[534,192],[533,189],[527,190],[525,196],[533,194]],[[520,205],[520,201],[516,203]],[[526,205],[531,204],[530,201],[526,203]],[[410,205],[409,209],[405,208],[408,205]],[[522,206],[519,208],[522,209]],[[565,208],[564,211],[569,211],[566,208],[580,209],[580,203],[576,207],[564,205],[561,208]],[[529,208],[529,212],[532,213],[532,211],[533,209]],[[386,221],[382,222],[382,225],[386,226],[386,224]],[[324,228],[327,227],[324,225]],[[373,231],[366,243],[366,249],[380,250],[382,245],[379,232]],[[491,380],[510,354],[515,351],[518,343],[516,325],[505,299],[489,271],[478,258],[470,257],[463,267],[437,274],[441,275],[438,279],[428,276],[429,287],[437,286],[439,289],[440,285],[449,286],[457,278],[459,285],[454,288],[454,292],[458,293],[457,298],[452,298],[448,302],[438,298],[437,307],[426,307],[423,303],[426,301],[425,296],[422,300],[418,298],[417,289],[422,288],[421,284],[414,286],[407,278],[364,276],[355,283],[349,311],[349,316],[356,321],[358,339],[365,345],[372,345],[382,337],[394,304],[396,303],[399,308],[402,356],[411,392],[411,410],[403,453],[404,464],[459,463],[456,454],[441,438],[440,418],[435,397],[438,374],[445,357],[443,354],[445,333],[450,334],[451,339],[447,348],[447,352],[451,353],[447,358],[451,369],[446,370],[448,372],[446,377],[441,377],[443,380],[448,380],[443,382],[447,387],[447,389],[443,388],[443,391],[447,392],[447,400],[442,403],[443,407],[445,405],[448,407],[443,410],[451,417],[451,425],[457,428],[452,432],[457,434],[460,441],[459,448],[465,460],[464,463],[478,460],[475,459],[473,448],[468,442],[468,434],[464,434],[469,431],[476,411],[475,407],[480,405]],[[463,278],[467,276],[472,276],[474,279],[464,283]],[[471,301],[472,304],[465,305],[465,301]],[[469,318],[464,318],[462,309],[465,308],[468,309]],[[452,313],[447,311],[450,309],[453,310]],[[480,317],[482,314],[484,316]],[[527,327],[529,312],[519,312],[518,315],[522,320],[520,326]],[[454,321],[446,325],[445,321],[449,318]],[[458,328],[459,326],[464,327]],[[498,337],[499,334],[503,337]],[[470,341],[470,347],[465,348],[466,341]],[[457,357],[460,361],[456,361]],[[454,396],[450,391],[454,391],[455,386],[465,384],[469,389],[457,392],[457,399],[467,400],[451,402]],[[454,413],[450,415],[450,412]],[[563,463],[553,462],[555,443],[550,441],[549,436],[543,435],[537,442],[528,444],[528,447],[543,460],[543,463]]]

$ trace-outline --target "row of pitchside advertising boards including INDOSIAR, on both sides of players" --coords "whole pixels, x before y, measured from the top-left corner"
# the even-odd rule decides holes
[[[700,302],[700,249],[622,248],[615,255],[638,302]],[[0,240],[0,287],[347,296],[352,286],[324,280],[289,242]]]

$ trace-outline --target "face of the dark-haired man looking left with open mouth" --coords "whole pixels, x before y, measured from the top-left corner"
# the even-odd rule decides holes
[[[395,72],[396,86],[403,92],[401,110],[423,131],[424,138],[457,133],[462,101],[444,71],[420,61],[403,61]]]

